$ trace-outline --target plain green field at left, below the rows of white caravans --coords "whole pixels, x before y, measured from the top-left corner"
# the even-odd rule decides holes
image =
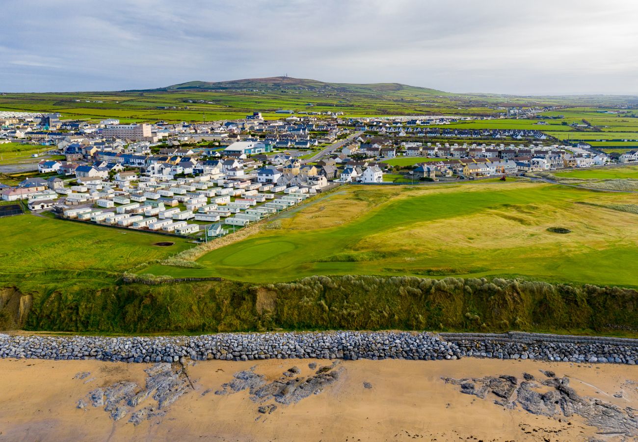
[[[181,238],[175,245],[152,245],[167,237],[86,225],[35,215],[0,218],[0,277],[46,270],[100,270],[123,273],[154,259],[189,248]],[[5,278],[6,279],[6,278]]]

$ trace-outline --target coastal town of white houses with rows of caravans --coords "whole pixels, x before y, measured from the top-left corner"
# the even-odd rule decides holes
[[[445,183],[638,160],[638,151],[612,160],[591,146],[549,144],[538,130],[429,127],[457,120],[440,116],[265,120],[253,112],[235,121],[177,124],[61,121],[59,114],[27,112],[0,118],[0,142],[44,151],[33,154],[41,158],[34,176],[16,185],[0,181],[4,201],[204,240],[342,184]],[[466,136],[484,142],[424,141]]]

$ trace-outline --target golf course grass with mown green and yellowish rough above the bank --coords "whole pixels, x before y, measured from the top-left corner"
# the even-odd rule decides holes
[[[345,187],[205,254],[197,260],[205,269],[153,265],[138,273],[248,282],[498,275],[638,286],[637,215],[579,202],[636,204],[638,195],[525,182]]]

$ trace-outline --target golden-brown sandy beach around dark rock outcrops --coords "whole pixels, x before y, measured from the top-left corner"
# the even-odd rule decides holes
[[[94,388],[117,381],[144,386],[144,369],[151,364],[0,360],[0,440],[623,440],[597,434],[598,429],[579,416],[559,420],[533,415],[520,406],[503,408],[489,398],[463,394],[458,386],[441,380],[441,376],[522,377],[523,372],[542,378],[539,370],[570,377],[570,386],[579,395],[638,409],[635,367],[529,360],[343,361],[338,365],[338,381],[295,404],[277,404],[271,414],[259,413],[260,404],[251,400],[247,390],[214,393],[235,372],[253,366],[256,374],[271,381],[293,366],[301,370],[295,376],[311,376],[315,373],[308,367],[311,362],[317,367],[331,364],[325,360],[188,361],[186,370],[193,387],[170,405],[165,416],[134,426],[128,415],[115,422],[103,408],[90,403],[79,409],[78,400]],[[90,374],[78,379],[80,372]],[[614,397],[619,392],[622,397]]]

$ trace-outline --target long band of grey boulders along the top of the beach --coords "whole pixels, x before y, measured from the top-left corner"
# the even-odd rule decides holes
[[[193,337],[0,335],[0,357],[123,362],[288,358],[456,360],[465,356],[634,365],[638,340],[510,332],[334,331],[219,333]]]

